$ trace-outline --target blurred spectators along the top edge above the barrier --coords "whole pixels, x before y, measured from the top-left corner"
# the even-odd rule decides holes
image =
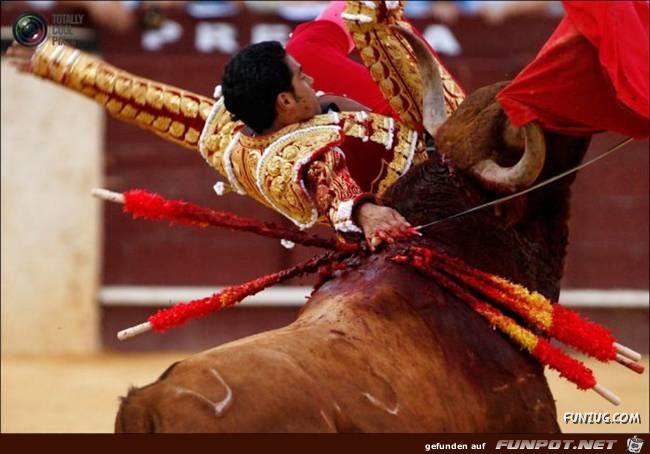
[[[93,23],[113,32],[124,32],[136,25],[138,9],[164,11],[182,9],[194,17],[228,17],[243,11],[276,14],[286,20],[306,21],[314,19],[327,6],[327,1],[24,1],[2,2],[2,8],[22,7],[35,11],[46,10],[65,3],[66,7],[84,10]],[[57,5],[58,4],[58,5]],[[453,25],[461,15],[478,16],[486,22],[499,24],[518,15],[559,16],[563,14],[560,1],[418,1],[406,4],[410,18],[431,18],[443,24]]]

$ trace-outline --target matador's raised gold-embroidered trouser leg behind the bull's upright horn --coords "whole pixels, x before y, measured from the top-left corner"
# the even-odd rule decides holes
[[[413,30],[403,1],[348,1],[343,19],[361,59],[391,107],[411,129],[421,129],[423,83],[411,46],[395,26]],[[435,56],[434,56],[435,58]],[[437,58],[436,58],[437,60]],[[445,109],[450,115],[465,98],[462,88],[439,64]]]

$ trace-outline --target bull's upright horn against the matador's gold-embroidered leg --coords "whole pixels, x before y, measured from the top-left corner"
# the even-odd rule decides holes
[[[396,26],[395,28],[411,45],[418,62],[420,77],[424,84],[422,124],[429,134],[435,136],[440,125],[447,119],[445,97],[438,62],[433,58],[433,55],[431,55],[429,48],[422,41],[422,38],[404,27]]]

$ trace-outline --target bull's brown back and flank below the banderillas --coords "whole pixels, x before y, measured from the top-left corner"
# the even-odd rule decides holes
[[[540,432],[557,430],[554,408],[544,408],[550,394],[540,371],[526,360],[529,370],[522,371],[520,352],[514,358],[497,354],[503,347],[498,339],[489,353],[494,361],[479,353],[476,363],[477,354],[462,344],[462,325],[436,330],[437,322],[426,320],[427,312],[440,323],[457,317],[474,330],[468,313],[454,307],[437,316],[419,311],[417,293],[441,294],[422,287],[419,278],[399,276],[406,287],[396,288],[400,272],[375,267],[374,277],[351,273],[323,287],[292,325],[178,363],[129,393],[116,430],[498,432],[531,424]],[[360,285],[367,278],[382,284]],[[420,291],[406,290],[413,286]],[[479,344],[485,340],[480,328],[470,333]],[[486,331],[495,342],[494,332]],[[530,402],[520,402],[522,395]]]

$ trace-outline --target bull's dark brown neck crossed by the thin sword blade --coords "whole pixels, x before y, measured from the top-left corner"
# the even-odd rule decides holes
[[[550,138],[557,145],[541,178],[555,175],[580,162],[588,140],[572,148]],[[556,143],[557,142],[557,143]],[[573,142],[571,142],[573,143]],[[561,146],[560,146],[561,145]],[[567,177],[534,191],[522,200],[503,206],[523,215],[508,225],[493,207],[436,224],[426,235],[450,255],[469,265],[503,276],[513,282],[557,298],[568,243],[570,186]],[[414,225],[447,217],[497,197],[481,190],[468,177],[451,169],[440,159],[405,175],[387,193],[395,206]]]

